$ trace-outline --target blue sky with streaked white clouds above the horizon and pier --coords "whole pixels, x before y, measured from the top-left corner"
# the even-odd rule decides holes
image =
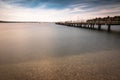
[[[120,0],[0,0],[0,20],[78,21],[120,16]]]

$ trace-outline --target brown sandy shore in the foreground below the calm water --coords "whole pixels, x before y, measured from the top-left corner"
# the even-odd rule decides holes
[[[120,51],[0,65],[0,80],[120,80]]]

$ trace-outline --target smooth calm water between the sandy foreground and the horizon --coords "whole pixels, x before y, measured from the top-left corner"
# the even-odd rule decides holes
[[[120,26],[112,30],[117,32],[54,23],[1,23],[0,64],[120,50]]]

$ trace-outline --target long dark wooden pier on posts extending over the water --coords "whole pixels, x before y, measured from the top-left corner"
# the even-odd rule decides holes
[[[56,24],[88,29],[96,29],[95,25],[97,25],[97,30],[101,30],[103,25],[107,25],[107,31],[110,32],[112,25],[120,25],[120,16],[89,19],[86,22],[57,22]]]

